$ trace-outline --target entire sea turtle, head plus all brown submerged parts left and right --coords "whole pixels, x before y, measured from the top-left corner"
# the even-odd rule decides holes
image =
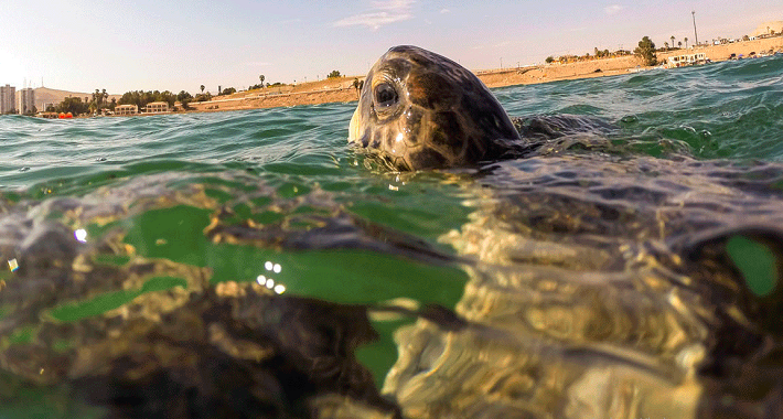
[[[414,47],[395,54],[409,73],[395,85],[400,104],[410,104],[410,89],[427,106],[443,95],[441,69],[419,66],[439,67],[444,58]],[[444,173],[472,208],[470,222],[440,239],[453,253],[358,215],[346,203],[355,196],[334,200],[340,192],[314,185],[291,196],[244,172],[208,182],[204,173],[135,175],[40,201],[0,196],[0,260],[9,266],[0,271],[0,406],[25,408],[33,389],[55,413],[73,417],[780,412],[783,239],[774,226],[783,224],[783,168],[561,147],[601,144],[601,136],[560,137],[554,146],[564,152],[548,153],[545,146],[564,132],[608,125],[532,118],[512,120],[514,135],[500,106],[481,104],[496,101],[476,96],[486,90],[471,77],[453,73],[462,84],[450,97],[471,90],[478,103],[460,99],[433,117],[417,105],[377,119],[367,87],[352,126],[361,133],[352,138],[371,148],[376,137],[385,147],[404,133],[410,152],[384,154],[397,169],[481,169]],[[394,96],[378,93],[382,104]],[[408,119],[415,115],[421,118]],[[470,138],[475,147],[450,142],[444,136],[457,125],[448,121],[460,123],[463,140],[491,132],[481,137],[491,146],[479,137]],[[414,128],[423,137],[406,139]],[[170,212],[175,217],[161,216]],[[83,241],[86,230],[94,236]],[[190,255],[170,260],[161,232],[192,241]],[[269,281],[254,282],[260,278],[217,281],[190,258],[206,253],[206,243],[285,253],[360,248],[457,265],[470,281],[453,311],[388,308],[416,324],[397,334],[399,359],[382,395],[354,355],[375,337],[368,315],[382,308],[278,294]],[[163,256],[143,256],[142,245]],[[765,270],[738,265],[734,247],[753,251]],[[757,289],[749,278],[759,276],[768,281]],[[87,407],[97,413],[81,410]]]

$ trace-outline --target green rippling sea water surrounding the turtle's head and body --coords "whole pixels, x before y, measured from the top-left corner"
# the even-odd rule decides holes
[[[493,93],[512,116],[576,114],[615,123],[619,132],[611,141],[628,155],[668,161],[674,151],[696,161],[775,166],[783,161],[782,74],[779,55]],[[475,202],[485,194],[465,187],[474,181],[464,171],[392,173],[354,153],[346,143],[354,107],[75,120],[0,117],[0,280],[14,280],[17,273],[6,265],[18,255],[26,217],[85,229],[85,246],[97,249],[92,256],[96,266],[121,269],[132,258],[165,259],[207,269],[213,284],[264,276],[289,296],[355,304],[405,299],[453,309],[469,273],[414,245],[412,250],[388,245],[398,243],[389,237],[404,235],[446,257],[458,256],[460,250],[439,238],[470,223]],[[503,184],[490,186],[502,190]],[[73,204],[46,205],[63,200]],[[246,226],[249,219],[289,233],[315,230],[344,216],[368,223],[365,230],[376,233],[361,237],[365,241],[330,237],[325,245],[310,236],[303,236],[309,237],[304,245],[279,243],[285,235],[273,230],[264,233],[264,240],[243,240],[211,233],[216,214],[223,214],[222,226]],[[121,251],[98,248],[111,235]],[[763,254],[737,255],[747,258],[748,251]],[[772,262],[738,265],[774,275]],[[83,298],[68,296],[42,315],[73,322],[117,310],[144,293],[187,287],[189,280],[175,275],[147,278],[132,289],[107,284]],[[755,289],[765,296],[772,287]],[[20,304],[3,300],[0,322]],[[378,384],[396,359],[393,332],[406,322],[410,319],[375,322],[380,339],[360,350]],[[36,327],[31,322],[0,329],[0,347],[41,339]],[[57,345],[67,348],[67,342]],[[56,395],[25,395],[28,406],[62,402]],[[4,413],[0,408],[0,416],[37,417],[40,410],[45,408],[19,405]]]

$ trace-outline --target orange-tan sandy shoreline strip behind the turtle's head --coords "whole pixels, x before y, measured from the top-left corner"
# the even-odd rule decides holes
[[[658,62],[673,55],[705,53],[712,62],[729,60],[731,54],[749,56],[762,51],[783,49],[783,37],[736,42],[723,45],[689,47],[658,53]],[[646,69],[634,56],[581,61],[570,64],[544,64],[539,66],[495,68],[475,72],[487,87],[504,87],[536,83],[548,83],[588,77],[605,77]],[[364,76],[346,76],[335,79],[301,83],[296,86],[270,87],[240,92],[229,96],[218,96],[211,101],[192,103],[196,111],[222,111],[256,108],[273,108],[324,103],[348,103],[357,99],[354,79]]]

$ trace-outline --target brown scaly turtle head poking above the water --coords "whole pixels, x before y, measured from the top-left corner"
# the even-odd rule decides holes
[[[395,46],[367,74],[348,141],[397,170],[497,159],[519,142],[503,107],[453,61]]]

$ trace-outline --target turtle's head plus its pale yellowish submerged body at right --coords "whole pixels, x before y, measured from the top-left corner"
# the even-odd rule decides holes
[[[415,46],[364,86],[350,142],[395,170],[480,169],[471,222],[441,237],[471,260],[464,326],[397,334],[384,391],[406,416],[780,415],[780,164],[545,155],[554,140],[610,147],[591,135],[611,125],[512,120],[473,74]]]

